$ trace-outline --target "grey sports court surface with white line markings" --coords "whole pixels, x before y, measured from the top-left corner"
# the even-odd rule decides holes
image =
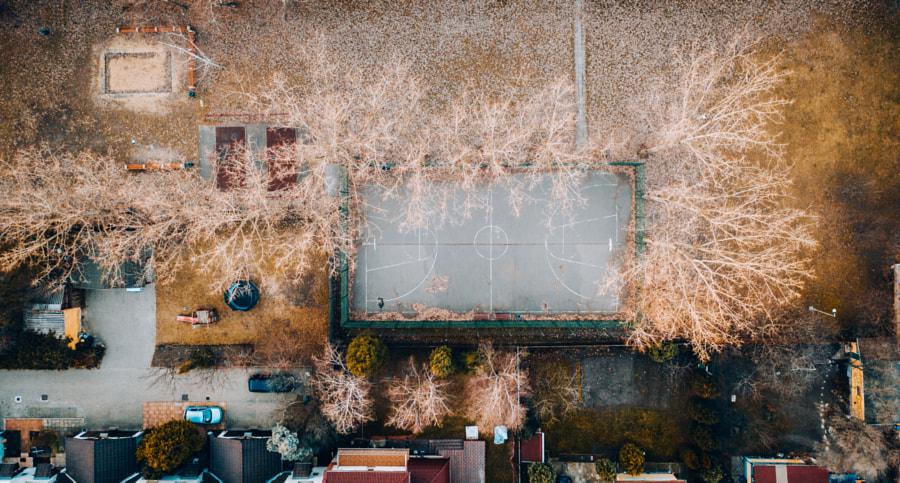
[[[619,297],[599,295],[598,285],[615,273],[613,255],[625,245],[630,177],[589,172],[579,188],[583,203],[568,213],[554,209],[549,186],[534,187],[519,216],[509,207],[508,189],[486,186],[468,218],[417,229],[402,229],[396,219],[402,198],[384,199],[379,188],[366,187],[351,309],[412,315],[420,304],[459,314],[617,312]]]

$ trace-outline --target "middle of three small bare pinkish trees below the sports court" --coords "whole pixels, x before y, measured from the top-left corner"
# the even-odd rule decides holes
[[[387,425],[419,434],[428,426],[440,426],[450,414],[447,382],[437,381],[425,367],[419,367],[412,357],[402,379],[396,379],[388,391],[391,414]]]

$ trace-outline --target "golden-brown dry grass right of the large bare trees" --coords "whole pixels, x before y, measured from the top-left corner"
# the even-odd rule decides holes
[[[845,327],[877,330],[900,262],[900,30],[820,21],[814,32],[780,46],[792,72],[781,95],[795,100],[779,126],[792,195],[820,217],[805,296]]]

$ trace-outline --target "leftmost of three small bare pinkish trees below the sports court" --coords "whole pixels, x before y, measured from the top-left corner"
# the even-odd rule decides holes
[[[315,358],[315,374],[310,382],[325,416],[339,434],[349,434],[360,424],[372,420],[374,411],[369,397],[371,384],[347,369],[340,352],[330,344],[321,358]]]

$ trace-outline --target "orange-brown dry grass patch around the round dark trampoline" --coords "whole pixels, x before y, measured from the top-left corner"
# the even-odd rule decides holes
[[[302,357],[316,354],[325,343],[329,316],[324,257],[319,266],[302,283],[283,282],[278,289],[263,289],[257,306],[247,312],[229,309],[222,294],[209,293],[208,280],[183,268],[170,282],[156,287],[156,343],[253,344],[260,352],[279,339],[291,338]],[[219,322],[192,328],[175,320],[176,315],[198,308],[215,308]]]

